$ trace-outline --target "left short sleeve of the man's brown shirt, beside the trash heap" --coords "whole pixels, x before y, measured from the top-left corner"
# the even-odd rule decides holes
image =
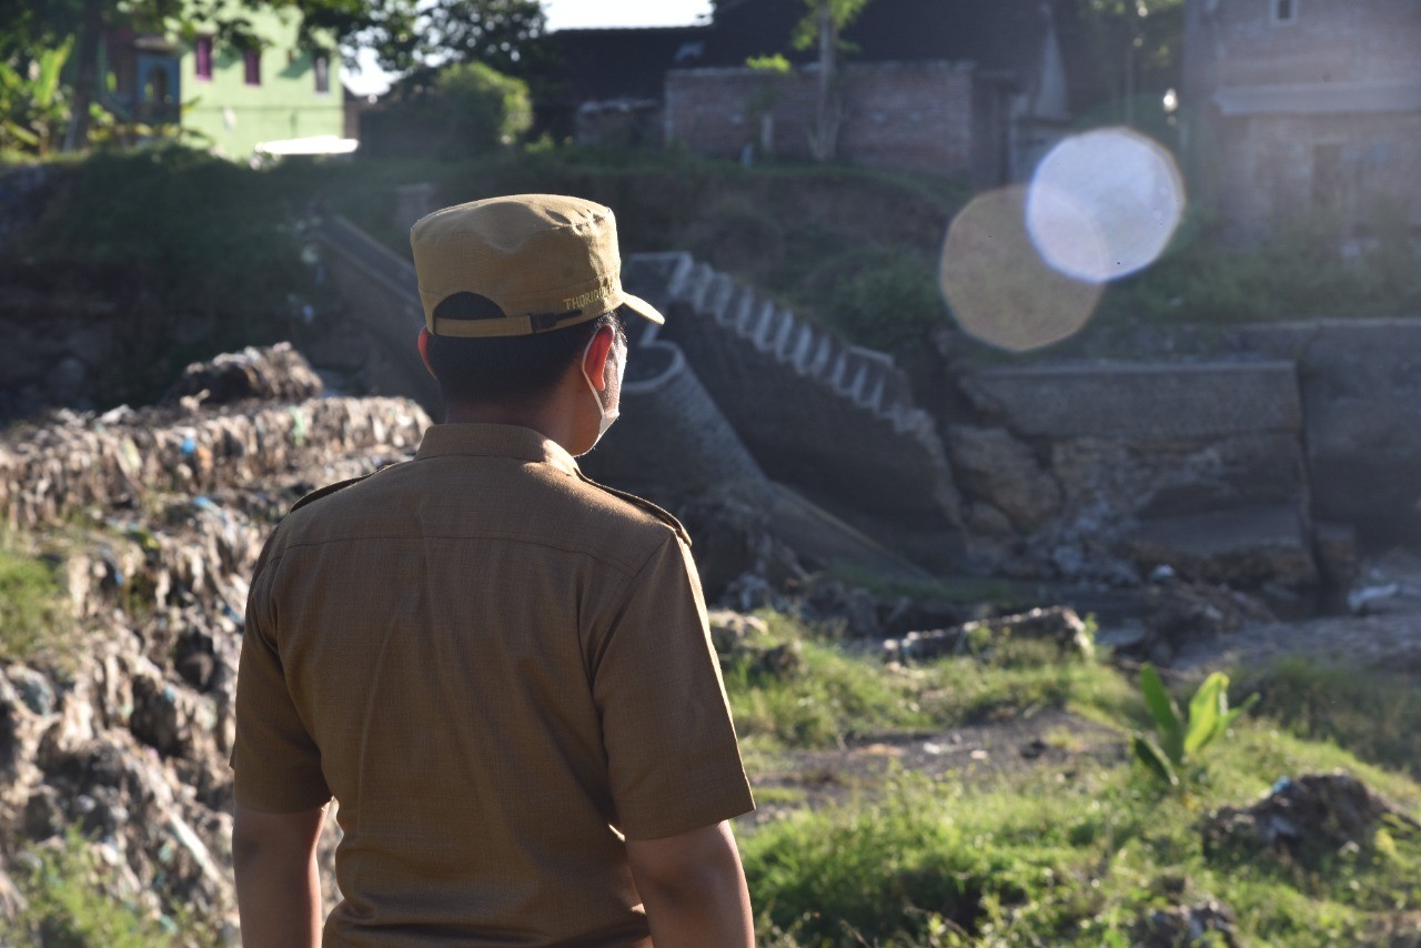
[[[331,792],[321,773],[320,748],[286,685],[271,607],[280,559],[267,563],[267,553],[257,563],[247,597],[230,763],[237,803],[261,813],[297,813],[323,806]]]

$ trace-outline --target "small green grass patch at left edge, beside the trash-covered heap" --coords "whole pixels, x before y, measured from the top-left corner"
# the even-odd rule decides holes
[[[72,620],[58,570],[0,537],[0,658],[61,659]]]

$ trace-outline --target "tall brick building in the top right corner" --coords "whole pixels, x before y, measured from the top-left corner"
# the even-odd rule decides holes
[[[1299,212],[1421,227],[1421,3],[1188,0],[1195,188],[1256,240]],[[1385,210],[1383,210],[1383,208]]]

